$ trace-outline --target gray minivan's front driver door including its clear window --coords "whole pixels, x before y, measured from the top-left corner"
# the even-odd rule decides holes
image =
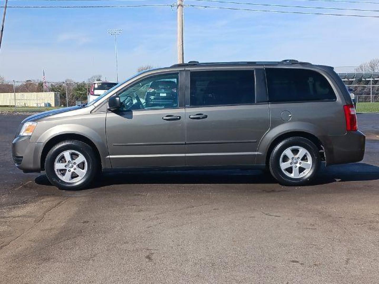
[[[106,115],[112,167],[185,165],[185,111],[179,72],[149,76],[118,93]]]

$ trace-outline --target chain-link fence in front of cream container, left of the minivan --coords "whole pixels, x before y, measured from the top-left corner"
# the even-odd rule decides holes
[[[87,102],[91,83],[0,81],[0,112],[41,112]]]

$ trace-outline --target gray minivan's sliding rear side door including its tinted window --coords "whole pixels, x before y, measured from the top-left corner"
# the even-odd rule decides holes
[[[255,81],[254,70],[190,72],[187,165],[254,164],[258,142],[269,128],[269,107],[256,103],[255,90],[262,88]]]

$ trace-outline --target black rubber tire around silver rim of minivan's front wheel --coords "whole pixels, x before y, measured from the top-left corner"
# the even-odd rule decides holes
[[[77,151],[78,153],[82,154],[86,159],[86,173],[80,180],[76,182],[63,181],[58,176],[59,172],[57,173],[54,168],[56,159],[58,159],[58,156],[60,156],[64,151]],[[73,159],[72,162],[75,162],[75,160]],[[91,146],[77,140],[66,140],[56,144],[49,151],[49,153],[47,153],[45,160],[45,172],[50,183],[52,183],[59,189],[81,190],[87,189],[89,186],[91,186],[96,176],[99,175],[100,163]],[[63,170],[63,173],[65,173],[65,170]]]

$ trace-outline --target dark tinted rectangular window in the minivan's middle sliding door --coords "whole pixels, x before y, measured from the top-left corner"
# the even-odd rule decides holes
[[[191,106],[254,103],[254,71],[191,72]]]

